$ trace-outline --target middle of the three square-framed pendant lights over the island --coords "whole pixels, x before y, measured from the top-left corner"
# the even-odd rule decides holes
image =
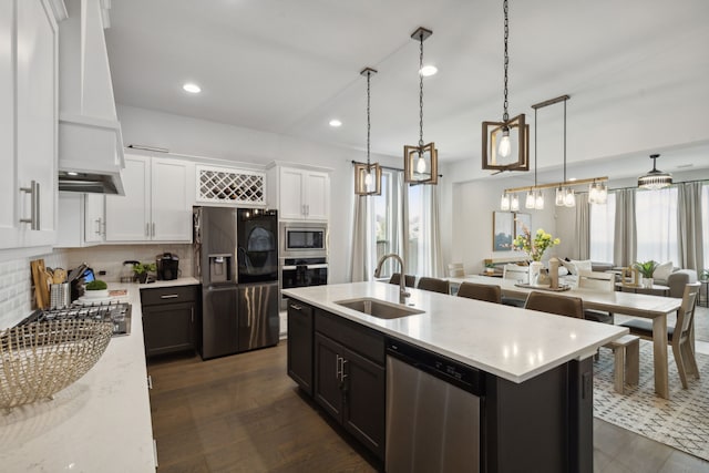
[[[403,146],[403,178],[413,184],[438,184],[439,152],[433,142],[423,144],[423,41],[433,32],[425,28],[415,30],[411,38],[419,41],[419,145]]]

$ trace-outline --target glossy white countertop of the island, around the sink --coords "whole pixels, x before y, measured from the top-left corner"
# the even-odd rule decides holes
[[[628,332],[625,327],[407,288],[423,313],[384,320],[335,301],[372,297],[399,302],[399,286],[353,282],[282,294],[513,382],[523,382]]]

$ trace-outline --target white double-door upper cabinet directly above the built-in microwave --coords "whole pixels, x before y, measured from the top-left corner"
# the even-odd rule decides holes
[[[269,177],[269,204],[277,206],[281,220],[328,220],[329,173],[276,166]]]

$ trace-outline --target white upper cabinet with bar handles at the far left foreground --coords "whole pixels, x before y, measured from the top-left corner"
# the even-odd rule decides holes
[[[56,58],[48,1],[0,2],[0,248],[55,241]]]

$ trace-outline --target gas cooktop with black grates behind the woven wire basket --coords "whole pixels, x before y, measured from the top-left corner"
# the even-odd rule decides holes
[[[62,309],[39,309],[18,325],[74,319],[112,322],[114,337],[131,333],[131,305],[115,301],[94,305],[74,302]]]

